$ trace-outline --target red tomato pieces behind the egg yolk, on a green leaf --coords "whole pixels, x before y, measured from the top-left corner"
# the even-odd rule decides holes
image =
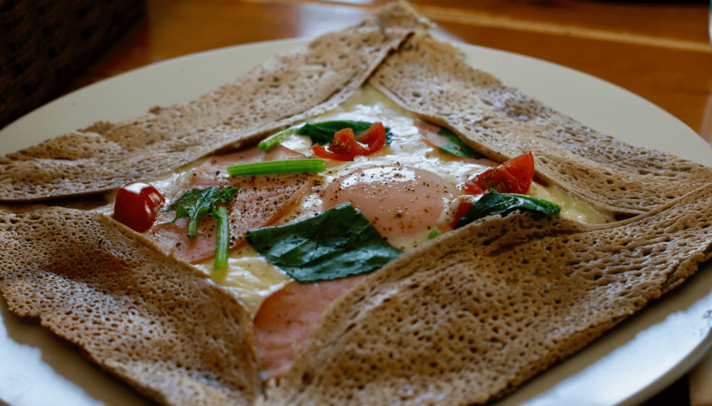
[[[366,146],[363,146],[365,144]],[[328,149],[319,144],[312,146],[314,155],[320,158],[350,161],[357,155],[370,155],[382,149],[386,144],[386,129],[382,123],[372,124],[358,137],[351,128],[345,128],[334,134],[334,141]]]

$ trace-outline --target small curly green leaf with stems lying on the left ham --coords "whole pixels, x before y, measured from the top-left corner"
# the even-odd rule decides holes
[[[217,220],[218,241],[214,269],[226,269],[230,241],[230,219],[227,209],[224,207],[216,209],[215,205],[217,203],[228,203],[238,190],[239,188],[231,186],[222,189],[217,186],[210,186],[204,189],[196,188],[184,193],[183,196],[179,197],[177,201],[166,209],[166,211],[176,210],[176,217],[170,223],[175,223],[179,218],[190,218],[188,223],[189,238],[196,237],[198,220],[202,215],[210,213]]]

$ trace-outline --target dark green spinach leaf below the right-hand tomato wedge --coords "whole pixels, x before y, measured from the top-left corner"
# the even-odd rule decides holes
[[[554,214],[561,211],[561,206],[533,196],[514,193],[499,193],[491,190],[476,201],[467,213],[457,220],[455,228],[461,228],[475,220],[493,214],[507,214],[516,209],[531,210],[542,214]]]

